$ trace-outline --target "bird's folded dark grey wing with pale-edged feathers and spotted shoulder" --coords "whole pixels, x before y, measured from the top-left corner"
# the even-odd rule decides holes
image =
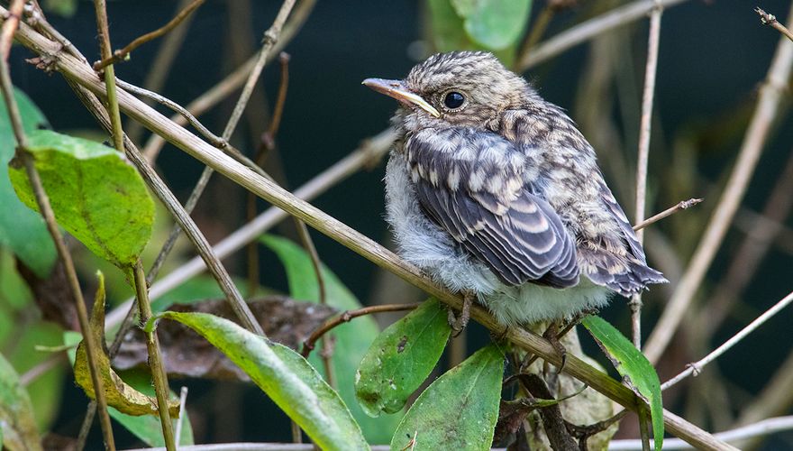
[[[576,247],[560,217],[533,195],[525,157],[495,133],[426,129],[405,144],[424,211],[508,284],[579,282]]]

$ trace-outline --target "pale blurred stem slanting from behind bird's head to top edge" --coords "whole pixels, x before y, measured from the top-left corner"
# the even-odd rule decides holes
[[[633,3],[614,8],[606,14],[600,14],[586,22],[579,23],[569,30],[561,32],[551,39],[542,42],[537,47],[526,51],[520,56],[516,67],[519,72],[524,72],[541,62],[550,60],[563,51],[567,51],[582,42],[589,41],[598,34],[608,32],[616,27],[647,17],[647,14],[657,6],[656,1],[657,0],[635,0]],[[686,0],[660,0],[658,4],[663,8],[669,8],[670,6],[679,5],[685,1]]]

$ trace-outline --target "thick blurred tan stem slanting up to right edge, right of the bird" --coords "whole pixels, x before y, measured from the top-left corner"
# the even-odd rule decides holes
[[[793,8],[790,10],[788,22],[793,22]],[[727,180],[725,191],[719,199],[702,239],[699,240],[688,269],[647,340],[644,354],[650,362],[657,362],[669,345],[680,320],[689,311],[689,305],[702,285],[716,251],[721,247],[749,180],[752,179],[757,161],[760,160],[761,152],[770,134],[771,124],[779,110],[782,94],[788,89],[791,69],[793,69],[793,42],[782,38],[771,61],[766,81],[761,87],[752,121],[743,138],[740,154],[734,163],[733,173]]]

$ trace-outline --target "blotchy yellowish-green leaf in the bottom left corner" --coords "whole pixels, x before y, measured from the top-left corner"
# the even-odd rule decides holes
[[[8,449],[41,449],[28,391],[19,383],[14,367],[0,354],[0,429]],[[0,447],[3,447],[0,446]]]

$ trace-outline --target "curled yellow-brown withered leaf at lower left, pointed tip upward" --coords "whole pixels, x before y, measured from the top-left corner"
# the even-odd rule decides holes
[[[96,353],[96,367],[102,379],[107,405],[128,415],[158,415],[157,399],[137,391],[123,382],[121,377],[110,367],[110,359],[105,354],[105,278],[99,274],[99,288],[96,290],[94,308],[91,311],[91,334],[94,342],[99,345]],[[75,380],[90,398],[96,398],[91,372],[88,368],[86,345],[80,342],[74,363]],[[179,416],[178,400],[169,400],[169,414],[173,418]]]

